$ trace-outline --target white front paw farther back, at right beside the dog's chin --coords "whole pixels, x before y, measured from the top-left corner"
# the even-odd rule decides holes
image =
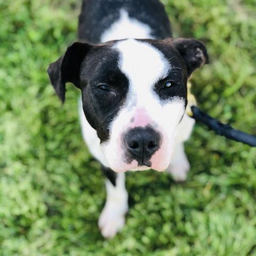
[[[170,164],[167,168],[167,172],[169,172],[173,179],[177,182],[186,181],[188,171],[190,169],[190,165],[188,161],[183,161],[179,164]]]

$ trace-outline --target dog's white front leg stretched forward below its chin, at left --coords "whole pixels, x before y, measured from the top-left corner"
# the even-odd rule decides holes
[[[125,213],[128,211],[128,194],[125,189],[125,174],[115,173],[102,166],[106,175],[107,200],[100,214],[99,227],[105,238],[111,238],[124,226]]]

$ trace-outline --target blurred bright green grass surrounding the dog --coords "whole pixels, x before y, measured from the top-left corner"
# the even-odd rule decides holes
[[[199,106],[256,134],[255,0],[165,0],[175,36],[202,39]],[[256,255],[256,149],[196,126],[187,182],[127,174],[126,226],[104,240],[99,164],[84,146],[78,91],[61,106],[46,68],[76,39],[79,1],[0,0],[0,255]]]

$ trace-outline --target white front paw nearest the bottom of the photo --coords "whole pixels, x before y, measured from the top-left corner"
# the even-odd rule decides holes
[[[127,205],[115,203],[105,205],[98,222],[103,237],[112,238],[123,228],[127,210]]]

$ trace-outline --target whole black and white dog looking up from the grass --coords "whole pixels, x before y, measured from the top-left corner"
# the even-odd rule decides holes
[[[48,73],[62,102],[67,82],[82,92],[83,138],[108,178],[99,227],[113,237],[128,210],[124,172],[186,179],[187,79],[208,55],[196,39],[172,38],[158,0],[84,0],[78,37]]]

